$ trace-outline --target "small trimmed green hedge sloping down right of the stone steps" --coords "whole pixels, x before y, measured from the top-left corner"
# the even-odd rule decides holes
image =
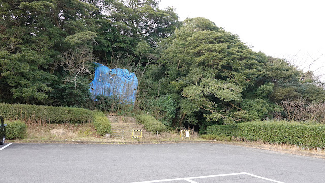
[[[155,119],[150,115],[147,114],[137,115],[136,119],[137,119],[137,123],[142,124],[144,128],[149,132],[167,131],[167,127],[163,123],[161,123],[160,121],[158,121],[157,119]]]

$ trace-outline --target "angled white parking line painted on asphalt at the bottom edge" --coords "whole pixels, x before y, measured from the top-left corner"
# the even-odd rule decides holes
[[[199,177],[187,177],[187,178],[173,178],[173,179],[165,179],[165,180],[152,180],[152,181],[142,181],[142,182],[133,182],[133,183],[156,183],[156,182],[167,182],[167,181],[177,181],[177,180],[185,180],[185,181],[188,181],[188,182],[191,182],[191,183],[197,183],[197,182],[195,182],[195,181],[193,181],[191,179],[212,178],[212,177],[233,176],[233,175],[244,175],[244,174],[249,175],[249,176],[253,176],[253,177],[256,177],[256,178],[261,178],[261,179],[264,179],[264,180],[276,182],[276,183],[283,183],[283,182],[280,182],[280,181],[277,181],[277,180],[264,178],[264,177],[253,175],[253,174],[246,173],[246,172],[228,173],[228,174],[219,174],[219,175],[208,175],[208,176],[199,176]]]

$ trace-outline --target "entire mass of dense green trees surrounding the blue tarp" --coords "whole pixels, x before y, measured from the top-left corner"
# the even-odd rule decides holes
[[[268,119],[283,100],[325,100],[312,72],[252,51],[206,18],[179,22],[158,4],[0,0],[0,102],[91,108],[94,62],[135,72],[134,110],[169,126]]]

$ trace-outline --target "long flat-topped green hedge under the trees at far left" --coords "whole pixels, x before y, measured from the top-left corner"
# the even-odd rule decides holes
[[[54,123],[93,121],[93,112],[71,107],[0,103],[0,115],[14,120],[46,120]]]

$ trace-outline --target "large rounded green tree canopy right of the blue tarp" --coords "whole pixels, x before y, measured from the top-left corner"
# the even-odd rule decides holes
[[[282,100],[315,101],[309,87],[324,93],[302,84],[302,71],[285,60],[253,52],[205,18],[186,19],[160,46],[165,51],[147,72],[151,95],[171,95],[177,101],[174,120],[181,125],[272,118]]]

